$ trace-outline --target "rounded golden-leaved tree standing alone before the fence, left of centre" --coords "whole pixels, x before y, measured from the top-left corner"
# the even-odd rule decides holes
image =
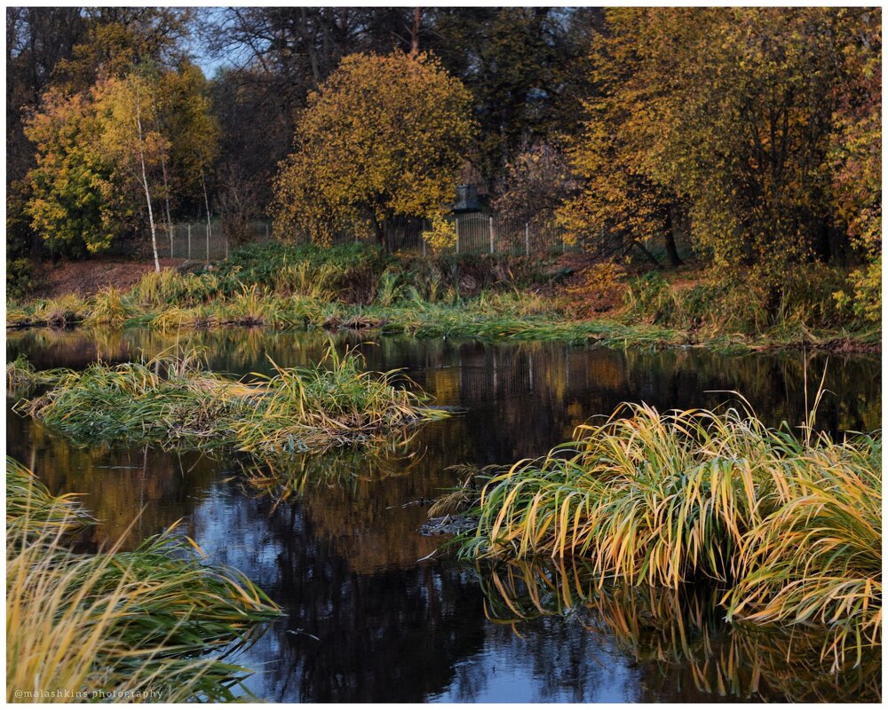
[[[422,53],[353,55],[309,98],[275,182],[275,229],[321,241],[362,221],[385,244],[394,215],[436,217],[454,200],[472,137],[462,83]]]

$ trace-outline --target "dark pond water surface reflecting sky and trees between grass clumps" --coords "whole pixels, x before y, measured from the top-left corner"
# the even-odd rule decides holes
[[[183,344],[184,338],[182,336]],[[188,335],[210,367],[269,372],[321,359],[324,335],[234,329]],[[826,367],[817,425],[835,436],[876,430],[879,356],[802,352],[720,356],[485,345],[349,341],[369,369],[404,368],[436,404],[464,414],[404,432],[384,451],[302,456],[281,469],[234,456],[80,449],[12,413],[7,451],[53,493],[83,493],[102,521],[96,544],[131,546],[179,518],[211,559],[234,565],[281,604],[237,661],[260,698],[304,702],[686,702],[877,699],[879,659],[838,680],[805,638],[728,627],[706,593],[625,598],[591,592],[581,567],[460,564],[421,536],[428,501],[457,482],[448,466],[544,454],[577,424],[622,401],[710,407],[736,390],[765,422],[797,425]],[[175,336],[31,330],[7,340],[35,367],[84,367],[153,355]],[[345,340],[337,345],[345,347]],[[7,406],[12,400],[7,398]],[[404,438],[409,440],[404,441]],[[400,442],[400,443],[398,443]],[[281,480],[287,485],[281,485]],[[139,517],[139,510],[143,514]],[[431,557],[430,557],[431,556]],[[792,643],[798,663],[786,660]]]

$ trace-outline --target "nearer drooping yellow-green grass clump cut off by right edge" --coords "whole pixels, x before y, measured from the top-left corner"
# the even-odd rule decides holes
[[[744,540],[728,617],[829,627],[826,652],[881,644],[881,438],[813,446],[797,490]]]

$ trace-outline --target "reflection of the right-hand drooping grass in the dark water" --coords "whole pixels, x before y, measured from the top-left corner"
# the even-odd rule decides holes
[[[643,687],[693,687],[720,697],[783,702],[879,702],[881,653],[853,654],[837,674],[829,643],[812,629],[726,625],[714,588],[602,587],[582,561],[516,562],[479,567],[488,619],[516,633],[533,619],[573,617],[592,635],[634,659]],[[693,694],[692,694],[693,695]],[[678,699],[678,698],[676,698]],[[693,697],[683,699],[692,700]],[[697,698],[699,699],[699,698]]]

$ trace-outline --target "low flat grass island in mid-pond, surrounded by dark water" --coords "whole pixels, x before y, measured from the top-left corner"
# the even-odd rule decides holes
[[[325,450],[385,437],[446,416],[401,386],[397,372],[363,369],[359,353],[332,344],[313,367],[234,380],[206,367],[195,351],[147,362],[96,363],[59,378],[43,396],[19,404],[75,441],[126,441],[256,454]],[[273,363],[274,365],[274,363]]]

